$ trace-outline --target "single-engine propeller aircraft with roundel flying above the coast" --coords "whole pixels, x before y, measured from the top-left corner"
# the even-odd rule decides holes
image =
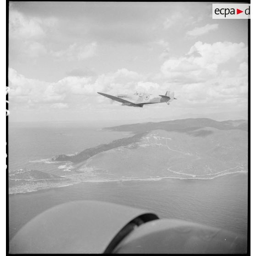
[[[143,107],[145,104],[155,104],[166,102],[167,105],[170,104],[171,101],[177,100],[174,98],[174,92],[167,91],[165,95],[153,95],[149,93],[134,93],[133,95],[128,94],[119,94],[117,96],[109,95],[106,93],[98,94],[105,96],[111,100],[116,100],[122,103],[122,106],[134,106],[134,107]]]

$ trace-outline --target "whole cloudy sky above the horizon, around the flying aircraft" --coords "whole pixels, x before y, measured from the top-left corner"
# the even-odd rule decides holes
[[[211,3],[11,2],[11,122],[247,119],[247,20]],[[164,94],[120,106],[96,92]]]

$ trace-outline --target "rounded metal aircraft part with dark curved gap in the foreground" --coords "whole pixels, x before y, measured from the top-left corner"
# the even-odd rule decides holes
[[[74,201],[55,206],[24,225],[11,254],[192,253],[245,254],[244,236],[128,206]]]

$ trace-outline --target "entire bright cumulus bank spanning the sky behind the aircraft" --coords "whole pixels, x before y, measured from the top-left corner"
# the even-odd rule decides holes
[[[230,68],[232,66],[232,68]],[[167,83],[167,81],[170,81]],[[248,93],[247,47],[244,43],[196,42],[186,54],[163,61],[161,72],[150,79],[126,68],[98,76],[70,75],[57,82],[26,78],[9,68],[10,106],[49,108],[65,111],[107,111],[119,103],[97,95],[116,95],[135,91],[153,94],[174,90],[175,106],[196,111],[200,107],[245,108]],[[227,105],[228,104],[228,105]],[[156,106],[164,108],[165,106]],[[132,111],[132,110],[130,110]]]

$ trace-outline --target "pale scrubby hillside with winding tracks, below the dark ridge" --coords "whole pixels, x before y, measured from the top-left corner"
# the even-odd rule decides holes
[[[247,171],[247,132],[193,128],[154,130],[139,142],[93,156],[81,168],[105,170],[115,178],[211,178]]]

